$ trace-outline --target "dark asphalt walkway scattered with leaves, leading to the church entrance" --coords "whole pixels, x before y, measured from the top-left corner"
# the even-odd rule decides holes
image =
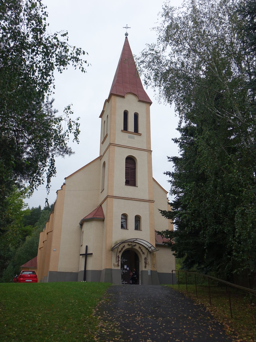
[[[206,308],[167,286],[113,285],[95,315],[97,341],[235,341]]]

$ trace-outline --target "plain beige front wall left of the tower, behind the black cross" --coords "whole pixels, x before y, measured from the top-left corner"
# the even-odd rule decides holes
[[[100,179],[100,158],[66,178],[58,271],[78,271],[81,245],[79,222],[99,204]]]

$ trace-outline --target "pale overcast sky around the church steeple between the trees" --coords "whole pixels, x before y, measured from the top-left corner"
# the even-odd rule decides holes
[[[43,0],[47,5],[49,31],[67,30],[69,43],[88,52],[87,73],[70,67],[62,74],[55,74],[54,107],[61,113],[64,107],[73,104],[74,118],[80,117],[80,143],[70,143],[75,154],[56,160],[57,176],[52,179],[49,203],[56,199],[65,177],[99,156],[99,115],[115,75],[128,24],[128,40],[133,54],[138,55],[146,43],[156,41],[152,27],[157,26],[162,1],[159,0]],[[173,6],[180,0],[171,0]],[[142,79],[143,83],[143,79]],[[171,170],[167,156],[177,155],[177,146],[171,141],[177,136],[177,117],[174,108],[157,103],[154,91],[146,89],[151,105],[151,148],[153,177],[169,191],[168,177],[163,174]],[[26,200],[29,207],[44,206],[46,189],[40,186]]]

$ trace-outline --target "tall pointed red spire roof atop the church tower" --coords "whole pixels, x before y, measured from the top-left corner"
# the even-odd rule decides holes
[[[152,104],[152,101],[143,89],[128,38],[125,37],[123,50],[117,65],[109,96],[111,94],[125,96],[127,93],[137,95],[139,101]]]

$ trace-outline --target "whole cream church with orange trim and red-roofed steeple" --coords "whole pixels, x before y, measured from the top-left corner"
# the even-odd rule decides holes
[[[172,281],[175,259],[156,231],[173,229],[158,211],[167,191],[152,174],[150,98],[127,34],[101,119],[100,156],[65,178],[37,256],[39,281]]]

